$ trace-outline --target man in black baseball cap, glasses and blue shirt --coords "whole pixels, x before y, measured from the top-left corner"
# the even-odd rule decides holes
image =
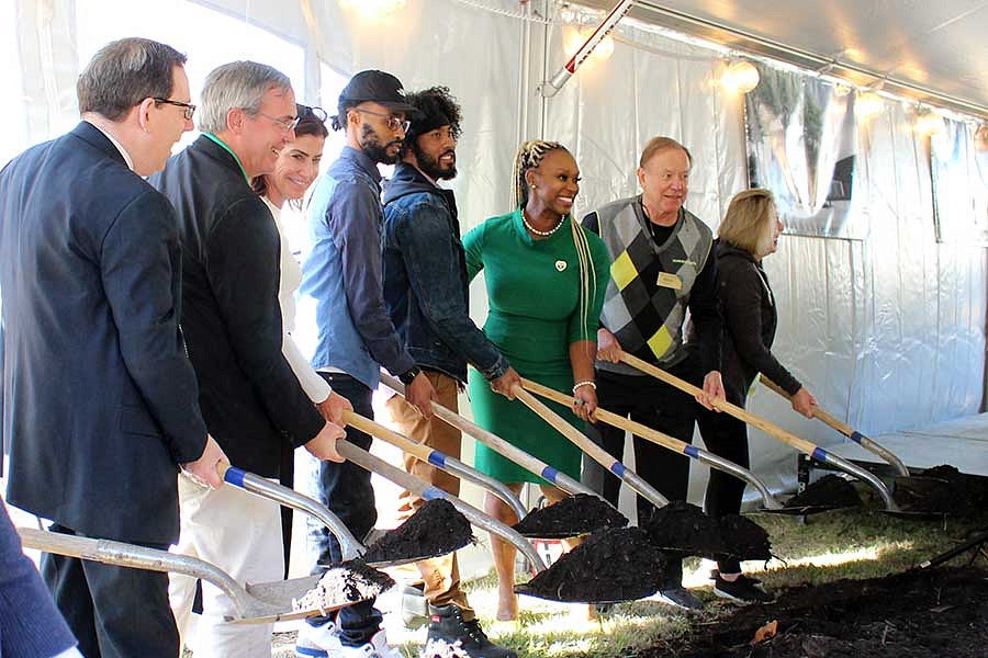
[[[346,129],[347,145],[316,184],[310,204],[312,252],[302,287],[313,300],[318,342],[312,365],[360,416],[373,418],[371,396],[383,365],[405,384],[408,399],[431,416],[435,390],[402,344],[384,306],[381,266],[381,174],[378,163],[397,161],[406,116],[416,114],[397,78],[361,71],[339,95],[333,129]],[[351,443],[370,449],[371,436],[353,428]],[[350,463],[321,463],[315,495],[358,537],[377,521],[370,473]],[[311,526],[318,549],[314,572],[338,563],[339,543],[323,526]],[[381,613],[368,601],[343,609],[336,619],[315,617],[295,644],[297,656],[401,658],[380,629]]]

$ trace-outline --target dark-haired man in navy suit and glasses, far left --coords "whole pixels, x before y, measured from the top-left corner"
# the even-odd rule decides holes
[[[220,487],[186,356],[178,226],[141,177],[192,127],[184,56],[148,39],[100,50],[80,123],[0,172],[8,500],[52,530],[167,548],[179,466]],[[45,555],[87,657],[175,658],[165,574]]]

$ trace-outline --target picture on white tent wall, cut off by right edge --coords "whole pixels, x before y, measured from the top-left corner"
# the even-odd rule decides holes
[[[988,247],[988,147],[967,123],[943,123],[930,137],[936,241]]]

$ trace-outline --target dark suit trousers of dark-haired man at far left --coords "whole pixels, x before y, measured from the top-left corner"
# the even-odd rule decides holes
[[[55,524],[52,532],[81,535]],[[168,551],[168,545],[139,544]],[[176,658],[168,574],[42,554],[42,577],[86,658]]]

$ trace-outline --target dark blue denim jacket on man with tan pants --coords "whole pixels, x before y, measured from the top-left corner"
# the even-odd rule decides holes
[[[487,379],[508,368],[470,319],[469,282],[453,193],[411,164],[384,188],[384,299],[415,362],[467,379],[467,363]]]

